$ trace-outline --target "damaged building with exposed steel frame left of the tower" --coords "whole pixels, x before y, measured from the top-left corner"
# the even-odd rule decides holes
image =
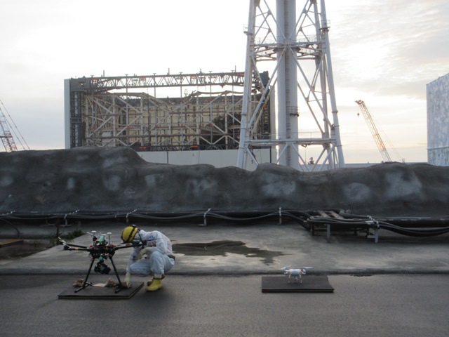
[[[69,147],[236,149],[243,82],[243,72],[68,79]]]

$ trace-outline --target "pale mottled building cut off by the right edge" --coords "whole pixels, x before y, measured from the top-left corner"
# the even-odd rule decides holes
[[[449,74],[427,84],[427,161],[449,166]]]

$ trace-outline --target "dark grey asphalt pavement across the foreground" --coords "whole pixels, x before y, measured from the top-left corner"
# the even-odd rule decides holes
[[[0,335],[448,336],[448,275],[328,279],[333,293],[262,293],[260,275],[169,275],[130,300],[67,300],[69,275],[2,275]]]

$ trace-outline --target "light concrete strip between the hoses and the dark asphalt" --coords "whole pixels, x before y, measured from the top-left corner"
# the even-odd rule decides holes
[[[60,228],[61,234],[76,229],[97,234],[108,232],[119,244],[121,223],[83,223]],[[173,242],[176,256],[172,275],[274,275],[281,267],[312,267],[315,275],[448,274],[449,234],[436,237],[406,237],[381,231],[379,240],[359,233],[326,232],[314,235],[297,223],[255,225],[180,224],[139,225],[142,230],[159,230]],[[55,236],[52,225],[2,225],[0,238]],[[88,246],[90,234],[72,244]],[[113,260],[124,274],[130,249],[119,249]],[[110,261],[106,261],[110,266]],[[69,274],[82,276],[90,258],[86,251],[65,251],[58,245],[32,256],[0,263],[0,275]]]

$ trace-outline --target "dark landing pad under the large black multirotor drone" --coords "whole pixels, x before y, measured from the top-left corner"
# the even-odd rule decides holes
[[[140,284],[134,284],[131,288],[123,288],[116,293],[116,287],[105,286],[86,286],[83,290],[75,293],[75,288],[71,286],[66,291],[62,291],[58,295],[58,298],[64,300],[127,300],[135,295],[140,288],[142,288],[143,282]]]

